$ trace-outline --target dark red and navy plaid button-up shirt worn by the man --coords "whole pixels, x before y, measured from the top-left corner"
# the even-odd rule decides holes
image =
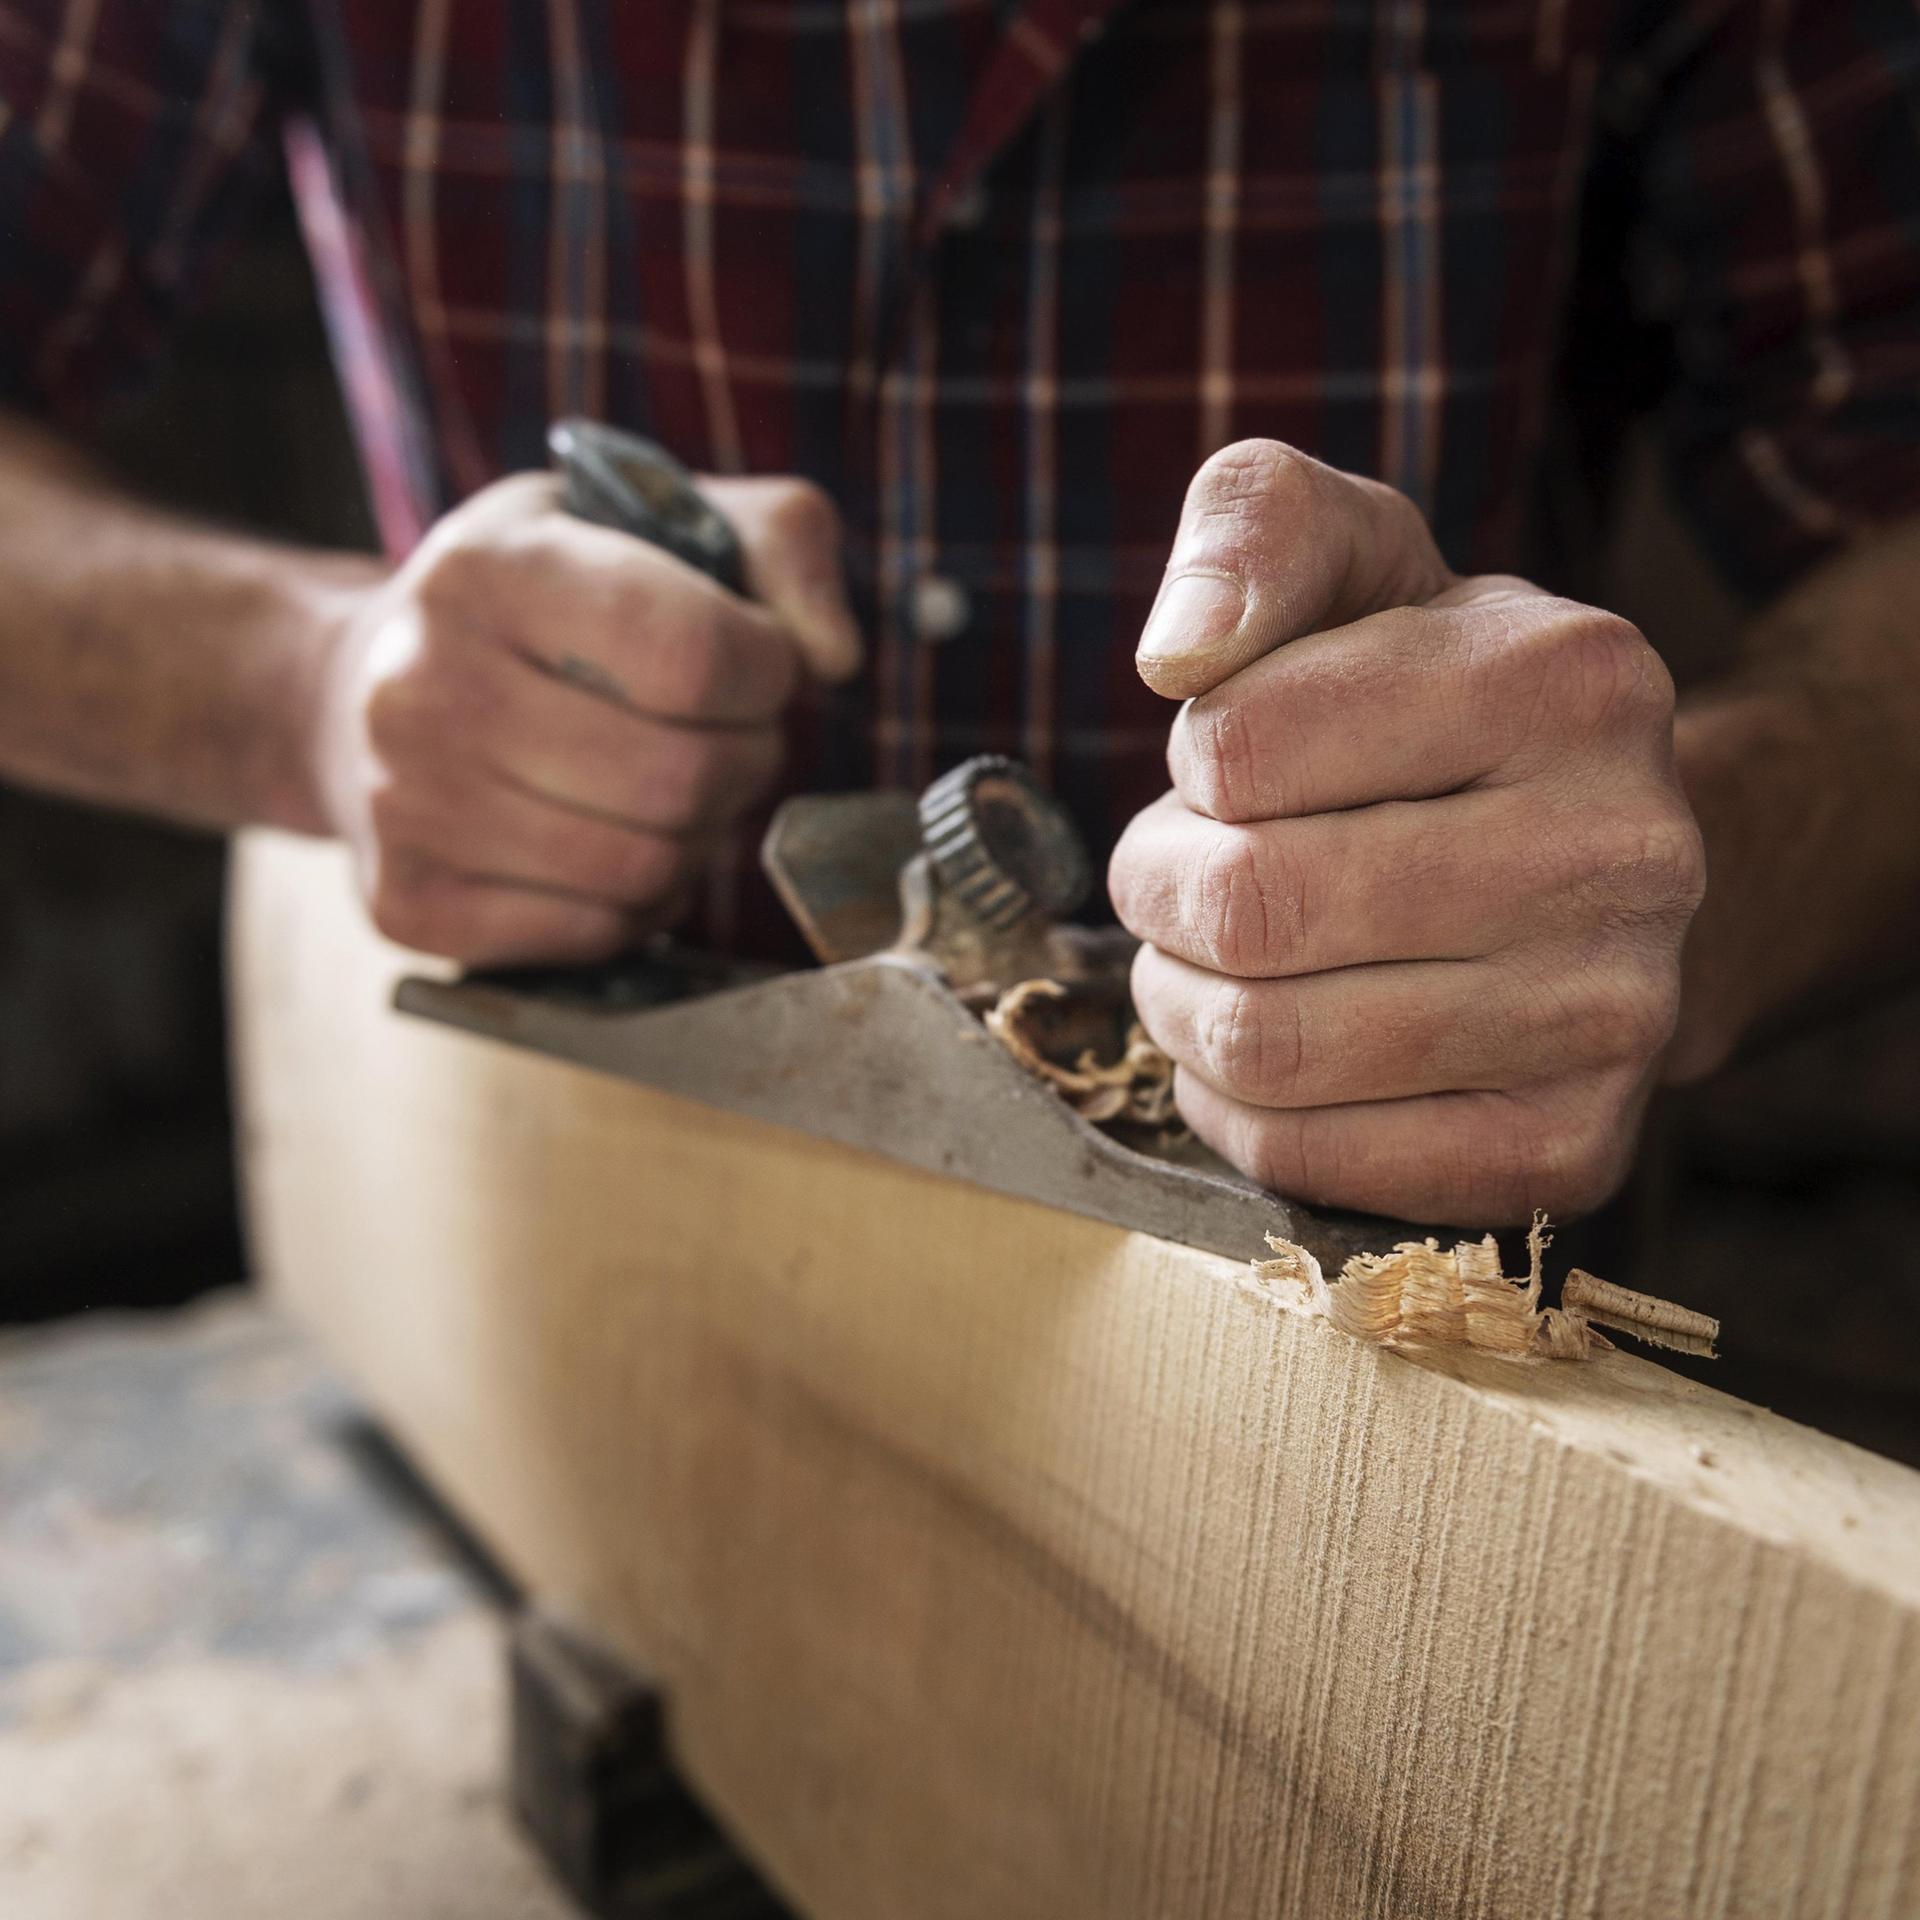
[[[396,551],[561,413],[808,474],[872,668],[797,778],[1112,839],[1192,468],[1511,566],[1555,380],[1630,397],[1580,284],[1740,586],[1920,505],[1916,125],[1910,0],[0,0],[0,392],[83,415],[284,152]]]

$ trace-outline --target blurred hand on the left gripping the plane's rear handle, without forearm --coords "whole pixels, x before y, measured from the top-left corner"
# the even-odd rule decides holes
[[[708,480],[753,601],[516,474],[359,589],[315,778],[374,924],[467,964],[595,960],[678,916],[780,768],[801,676],[860,641],[839,524],[803,480]]]

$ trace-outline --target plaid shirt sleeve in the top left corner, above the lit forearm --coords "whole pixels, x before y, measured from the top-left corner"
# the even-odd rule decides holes
[[[0,0],[0,399],[84,420],[273,177],[257,0]]]

